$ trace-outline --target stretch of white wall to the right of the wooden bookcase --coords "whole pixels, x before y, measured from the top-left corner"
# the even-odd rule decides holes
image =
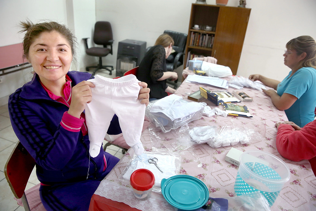
[[[286,43],[301,35],[316,39],[316,1],[247,1],[246,7],[252,9],[237,74],[281,81],[290,71],[283,63]]]

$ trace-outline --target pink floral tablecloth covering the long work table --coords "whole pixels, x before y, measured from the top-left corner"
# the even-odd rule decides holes
[[[199,86],[207,90],[221,90],[216,87],[183,82],[175,94],[182,96],[183,99],[187,99],[188,94],[197,91]],[[233,89],[229,88],[228,91],[232,92]],[[203,116],[190,124],[193,126],[215,125],[217,127],[223,127],[227,124],[232,124],[232,119],[240,125],[250,124],[252,121],[265,121],[266,131],[261,140],[251,141],[243,145],[238,143],[233,147],[241,151],[258,149],[270,152],[288,164],[291,178],[284,185],[271,210],[316,210],[316,177],[313,174],[309,162],[307,160],[300,162],[290,161],[283,158],[276,150],[275,139],[277,129],[275,123],[287,121],[284,111],[277,110],[271,103],[270,97],[266,96],[262,91],[249,88],[244,88],[243,91],[252,97],[253,101],[241,102],[239,104],[246,105],[253,118],[238,116],[223,117],[217,115],[212,117]],[[204,100],[204,102],[207,102],[207,100]],[[211,102],[207,103],[211,108],[215,108]],[[177,134],[170,131],[161,134],[161,137],[163,137],[164,140],[161,140],[160,145],[167,148],[170,146],[168,142],[176,139]],[[141,141],[146,151],[152,151],[152,141],[150,140],[148,129],[143,132]],[[208,187],[211,197],[235,196],[234,182],[238,172],[238,166],[225,161],[225,156],[231,148],[232,146],[212,148],[207,144],[200,144],[183,150],[180,174],[191,175],[203,181]],[[113,201],[124,202],[140,210],[176,210],[166,202],[160,193],[153,193],[149,199],[144,201],[137,200],[133,196],[130,184],[123,183],[120,179],[122,172],[126,166],[128,166],[131,158],[132,151],[129,150],[100,183],[95,194]]]

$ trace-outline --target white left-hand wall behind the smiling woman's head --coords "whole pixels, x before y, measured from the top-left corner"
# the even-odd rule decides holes
[[[84,37],[92,37],[95,23],[95,0],[0,0],[0,46],[21,43],[24,34],[18,34],[20,21],[30,19],[32,22],[41,20],[56,21],[67,25],[78,41],[76,51],[77,63],[72,70],[80,67],[84,70],[87,64],[96,62],[93,57],[87,57],[82,41]],[[91,39],[88,40],[91,45]],[[7,102],[8,95],[29,81],[31,70],[18,71],[4,75],[0,84],[0,105]]]

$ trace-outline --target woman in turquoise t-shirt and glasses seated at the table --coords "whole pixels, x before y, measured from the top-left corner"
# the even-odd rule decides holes
[[[272,89],[263,90],[289,121],[303,127],[314,120],[316,106],[316,42],[310,36],[300,36],[286,44],[284,64],[291,68],[282,82],[259,74],[250,75]]]

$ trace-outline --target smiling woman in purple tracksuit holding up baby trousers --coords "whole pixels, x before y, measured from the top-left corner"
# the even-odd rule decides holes
[[[56,22],[22,22],[24,56],[33,79],[9,97],[15,134],[36,161],[40,197],[46,210],[88,210],[91,196],[118,158],[89,155],[84,109],[91,102],[87,72],[69,71],[74,36]],[[140,83],[138,99],[148,104],[149,89]]]

